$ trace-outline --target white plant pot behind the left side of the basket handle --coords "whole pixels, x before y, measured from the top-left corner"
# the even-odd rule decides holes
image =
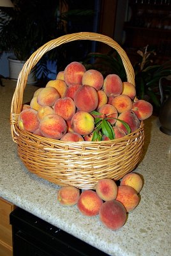
[[[26,61],[20,61],[15,58],[15,56],[9,56],[9,70],[10,70],[10,79],[17,80],[20,74],[20,71],[22,70],[22,67],[24,66],[24,63]],[[28,79],[27,84],[34,84],[36,83],[36,76],[34,74],[34,71],[31,71]]]

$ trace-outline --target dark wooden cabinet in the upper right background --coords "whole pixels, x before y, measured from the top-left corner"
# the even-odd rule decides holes
[[[159,63],[170,60],[170,1],[128,1],[128,21],[124,23],[128,56],[149,45]]]

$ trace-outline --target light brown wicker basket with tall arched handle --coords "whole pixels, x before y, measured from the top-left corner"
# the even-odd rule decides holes
[[[60,186],[94,189],[102,178],[121,179],[140,161],[144,144],[144,123],[124,138],[110,141],[65,142],[44,138],[19,129],[18,118],[27,77],[46,52],[75,40],[93,40],[114,48],[123,61],[127,80],[135,84],[133,67],[126,52],[111,38],[97,33],[61,36],[35,51],[22,68],[11,102],[11,136],[18,145],[20,159],[30,172]],[[137,100],[137,99],[135,99]]]

